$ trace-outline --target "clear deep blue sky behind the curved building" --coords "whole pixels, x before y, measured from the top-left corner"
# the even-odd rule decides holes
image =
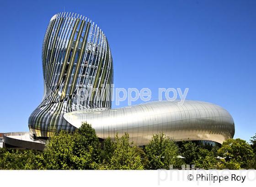
[[[2,1],[1,132],[28,131],[27,119],[43,97],[44,33],[64,10],[104,31],[116,88],[150,88],[152,99],[158,88],[189,88],[187,99],[229,111],[235,138],[249,141],[256,133],[254,0]]]

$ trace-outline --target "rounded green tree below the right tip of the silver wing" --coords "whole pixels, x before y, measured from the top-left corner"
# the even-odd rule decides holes
[[[225,158],[223,165],[227,169],[251,169],[250,161],[255,159],[251,146],[245,140],[239,138],[225,140],[218,150],[218,154]]]

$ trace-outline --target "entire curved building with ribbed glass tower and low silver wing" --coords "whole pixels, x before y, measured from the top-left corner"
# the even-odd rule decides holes
[[[85,121],[101,139],[114,139],[116,133],[128,132],[135,145],[148,144],[160,132],[175,141],[220,144],[234,136],[235,125],[229,112],[206,102],[185,101],[179,105],[179,101],[159,101],[111,109],[110,47],[101,29],[84,16],[59,13],[52,17],[43,41],[42,59],[43,101],[29,117],[30,135],[4,136],[10,145],[27,136],[32,139],[28,143],[42,143],[53,133],[72,132]]]

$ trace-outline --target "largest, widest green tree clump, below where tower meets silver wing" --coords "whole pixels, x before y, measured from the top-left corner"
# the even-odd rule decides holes
[[[97,169],[100,151],[95,130],[83,123],[73,134],[62,130],[51,137],[38,160],[41,169]]]

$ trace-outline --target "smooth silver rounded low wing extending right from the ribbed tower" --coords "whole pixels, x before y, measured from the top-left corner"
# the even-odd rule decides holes
[[[200,101],[149,102],[120,109],[89,109],[64,114],[79,128],[87,121],[98,137],[114,139],[115,134],[129,133],[136,145],[146,145],[154,134],[164,132],[175,141],[210,140],[223,143],[233,138],[234,120],[222,107]]]

